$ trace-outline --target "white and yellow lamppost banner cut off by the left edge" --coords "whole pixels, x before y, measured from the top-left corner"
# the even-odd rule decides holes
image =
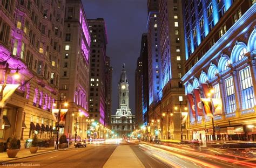
[[[2,90],[3,84],[0,85],[0,92]],[[6,84],[3,90],[3,99],[0,102],[0,108],[3,108],[7,101],[10,99],[11,95],[14,94],[15,90],[19,87],[18,84]]]

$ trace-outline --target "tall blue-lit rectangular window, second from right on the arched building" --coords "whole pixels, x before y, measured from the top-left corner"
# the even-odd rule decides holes
[[[234,94],[234,83],[233,77],[225,80],[226,94],[227,94],[227,113],[233,113],[235,111],[235,94]]]

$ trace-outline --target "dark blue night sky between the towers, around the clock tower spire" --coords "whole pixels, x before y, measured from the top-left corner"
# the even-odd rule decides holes
[[[113,67],[112,114],[118,107],[118,81],[123,63],[129,80],[130,108],[135,114],[134,73],[140,53],[142,33],[146,32],[147,0],[82,0],[87,19],[104,18],[107,56]]]

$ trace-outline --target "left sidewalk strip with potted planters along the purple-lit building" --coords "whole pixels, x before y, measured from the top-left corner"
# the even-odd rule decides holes
[[[71,146],[70,148],[75,148],[74,146]],[[70,148],[65,148],[65,149],[70,149]],[[59,149],[59,150],[65,150],[65,149]],[[0,163],[3,162],[8,162],[11,160],[17,160],[17,159],[22,159],[22,158],[27,158],[31,156],[36,156],[36,155],[42,155],[44,153],[50,153],[50,152],[55,152],[58,150],[54,149],[54,146],[49,147],[49,148],[39,148],[36,153],[31,154],[29,149],[21,149],[18,151],[18,154],[15,158],[9,158],[6,152],[0,153]]]

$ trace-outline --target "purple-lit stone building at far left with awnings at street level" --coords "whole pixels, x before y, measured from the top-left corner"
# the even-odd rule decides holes
[[[58,100],[65,1],[6,1],[0,3],[0,61],[3,90],[0,138],[53,136],[56,118],[51,109]],[[19,79],[12,78],[18,68]],[[18,86],[19,85],[19,86]]]

